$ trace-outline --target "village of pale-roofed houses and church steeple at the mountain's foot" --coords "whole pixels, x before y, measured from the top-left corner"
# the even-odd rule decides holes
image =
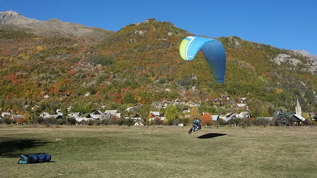
[[[84,96],[89,96],[90,92],[86,92],[84,94]],[[49,98],[48,95],[44,95],[43,98]],[[156,119],[156,120],[160,120],[160,121],[164,121],[166,120],[165,118],[165,109],[169,106],[169,105],[175,105],[175,106],[181,106],[182,107],[182,113],[184,114],[184,118],[190,118],[190,112],[191,109],[193,107],[199,107],[201,105],[202,102],[206,102],[205,98],[200,98],[198,104],[193,102],[193,101],[187,101],[187,102],[182,102],[180,99],[175,99],[173,101],[167,101],[167,100],[163,100],[161,102],[154,102],[151,104],[153,110],[157,110],[157,111],[147,111],[147,113],[150,113],[149,116],[149,120],[152,122]],[[223,101],[226,101],[227,104],[231,105],[231,108],[234,108],[236,110],[240,110],[241,112],[235,113],[235,112],[228,112],[226,114],[218,114],[218,115],[212,115],[211,119],[212,121],[217,121],[217,119],[223,119],[224,122],[227,122],[228,120],[230,120],[233,117],[237,117],[237,118],[253,118],[253,116],[249,113],[250,108],[248,105],[248,102],[250,101],[249,98],[241,98],[240,99],[240,103],[236,103],[233,100],[230,99],[229,95],[223,95],[220,94],[219,98],[214,99],[213,102],[215,105],[213,105],[213,107],[217,107],[217,105],[222,104]],[[136,106],[129,106],[127,107],[125,110],[123,111],[119,111],[119,110],[105,110],[104,112],[100,111],[104,108],[106,108],[105,105],[102,105],[98,108],[98,110],[94,110],[90,113],[80,113],[80,112],[72,112],[73,107],[72,106],[68,106],[67,109],[67,115],[65,117],[63,117],[63,113],[60,111],[60,109],[57,109],[55,111],[55,113],[49,114],[48,112],[39,112],[38,117],[42,117],[43,119],[48,119],[48,118],[54,118],[56,120],[58,119],[65,119],[65,118],[74,118],[76,120],[76,122],[74,124],[76,125],[86,125],[89,123],[89,121],[102,121],[102,120],[107,120],[107,119],[128,119],[131,118],[133,120],[133,125],[135,126],[144,126],[146,124],[146,118],[141,118],[140,116],[140,109],[142,106],[144,106],[144,104],[139,103],[139,105]],[[223,107],[223,106],[221,106]],[[27,124],[24,121],[24,114],[27,111],[27,109],[30,108],[31,111],[33,110],[37,110],[39,108],[39,105],[23,105],[22,106],[23,109],[25,109],[25,111],[22,111],[19,114],[14,113],[13,110],[9,110],[9,111],[3,111],[3,109],[0,109],[1,112],[1,119],[2,118],[8,118],[10,119],[10,123],[13,124]],[[302,112],[301,112],[301,106],[299,104],[299,101],[297,100],[296,103],[296,107],[295,107],[295,112],[289,112],[289,116],[293,117],[295,120],[298,120],[298,122],[300,123],[301,121],[305,121],[305,118],[302,117]],[[205,112],[201,113],[201,116],[203,116],[205,114]],[[311,120],[314,120],[314,118],[316,117],[315,113],[310,113],[307,114],[307,116],[309,116],[311,118]],[[259,117],[257,117],[256,119],[258,119]],[[270,116],[270,117],[262,117],[268,121],[272,121],[274,119],[274,116]],[[5,124],[5,122],[2,122],[3,124]],[[182,125],[182,124],[181,124]]]

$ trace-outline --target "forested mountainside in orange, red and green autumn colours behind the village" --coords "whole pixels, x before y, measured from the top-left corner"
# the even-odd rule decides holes
[[[1,16],[1,22],[23,25],[21,15],[12,16]],[[27,21],[34,25],[36,20]],[[64,31],[61,23],[54,25],[60,33]],[[294,111],[297,99],[303,112],[317,110],[315,60],[294,50],[237,36],[220,37],[217,40],[227,52],[221,85],[213,79],[201,52],[192,61],[181,59],[180,42],[194,34],[171,22],[146,19],[94,43],[75,35],[44,35],[32,31],[32,25],[5,26],[0,31],[0,108],[4,110],[22,111],[22,105],[36,104],[46,112],[65,111],[68,105],[83,113],[100,105],[123,111],[165,99],[198,103],[202,97],[209,102],[200,110],[213,114],[235,111],[230,105],[243,97],[250,99],[254,117],[262,107]],[[89,96],[84,96],[86,92]],[[233,100],[212,109],[221,93]]]

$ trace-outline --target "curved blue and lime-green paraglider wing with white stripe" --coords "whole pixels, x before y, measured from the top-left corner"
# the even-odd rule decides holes
[[[179,54],[184,60],[193,60],[199,50],[203,52],[215,80],[223,83],[226,73],[226,51],[223,44],[215,39],[188,36],[179,46]]]

